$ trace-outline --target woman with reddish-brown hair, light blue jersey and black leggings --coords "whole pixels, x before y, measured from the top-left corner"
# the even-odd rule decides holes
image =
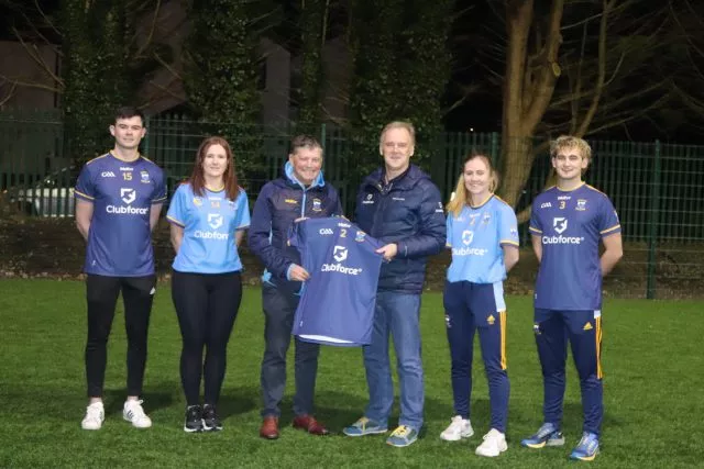
[[[222,422],[216,406],[242,300],[238,246],[250,225],[246,194],[238,186],[234,158],[224,138],[208,137],[200,144],[193,175],[174,193],[167,220],[176,250],[172,298],[183,337],[184,431],[219,431]]]

